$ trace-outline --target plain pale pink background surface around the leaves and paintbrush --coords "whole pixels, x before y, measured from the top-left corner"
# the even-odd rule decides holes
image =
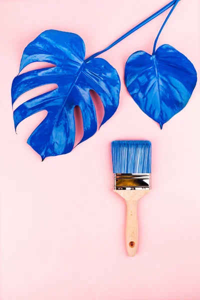
[[[41,31],[78,33],[88,56],[166,3],[0,0],[1,300],[200,299],[199,84],[160,130],[123,81],[127,57],[151,52],[167,12],[101,55],[121,78],[119,107],[71,153],[41,162],[25,140],[45,112],[24,120],[16,135],[10,104],[23,48]],[[180,1],[158,40],[183,52],[198,72],[199,6]],[[15,107],[48,88],[26,93]],[[132,258],[125,250],[125,203],[112,192],[110,142],[140,138],[152,142],[152,190],[138,203]]]

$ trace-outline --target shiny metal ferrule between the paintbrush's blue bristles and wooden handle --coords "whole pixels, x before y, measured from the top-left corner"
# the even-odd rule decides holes
[[[114,189],[150,189],[151,174],[114,173]]]

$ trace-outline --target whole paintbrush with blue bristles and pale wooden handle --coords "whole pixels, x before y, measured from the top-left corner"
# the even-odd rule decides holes
[[[125,199],[126,248],[137,249],[137,200],[150,190],[151,143],[148,140],[114,140],[111,143],[114,191]]]

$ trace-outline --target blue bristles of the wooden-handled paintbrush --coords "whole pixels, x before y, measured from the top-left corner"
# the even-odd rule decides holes
[[[151,143],[148,140],[114,140],[113,173],[150,173]]]

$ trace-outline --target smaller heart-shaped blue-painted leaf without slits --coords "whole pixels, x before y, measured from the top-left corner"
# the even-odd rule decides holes
[[[149,117],[162,125],[187,104],[196,85],[196,70],[182,53],[163,44],[154,55],[137,51],[125,64],[125,84]]]

